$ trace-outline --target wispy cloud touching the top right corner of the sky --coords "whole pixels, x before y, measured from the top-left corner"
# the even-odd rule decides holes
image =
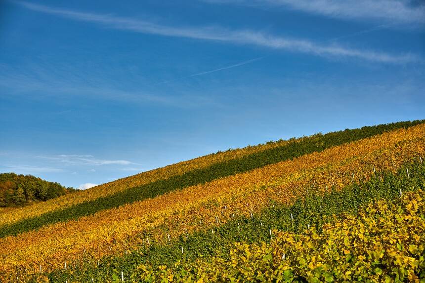
[[[424,24],[425,4],[413,0],[205,0],[215,3],[284,6],[340,19],[372,19],[400,24]]]

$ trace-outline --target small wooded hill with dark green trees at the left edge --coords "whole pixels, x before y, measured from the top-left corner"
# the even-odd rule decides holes
[[[75,191],[32,175],[0,173],[0,207],[45,202]]]

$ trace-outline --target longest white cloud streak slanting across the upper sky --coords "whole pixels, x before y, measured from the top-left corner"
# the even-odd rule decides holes
[[[161,36],[198,40],[214,40],[235,44],[251,44],[267,48],[283,49],[319,56],[348,57],[382,63],[405,64],[422,60],[413,54],[396,55],[371,50],[352,49],[336,44],[329,45],[314,43],[310,40],[289,39],[250,30],[228,30],[216,26],[201,28],[176,28],[109,14],[94,14],[67,9],[57,9],[28,2],[19,3],[24,7],[34,11],[61,16],[76,21],[96,23],[113,29],[127,30],[143,34],[155,34]]]

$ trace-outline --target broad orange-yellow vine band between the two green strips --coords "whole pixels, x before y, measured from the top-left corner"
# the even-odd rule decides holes
[[[46,271],[60,269],[66,260],[95,260],[107,254],[123,253],[140,243],[146,244],[148,237],[150,243],[165,243],[168,235],[174,238],[206,229],[217,225],[217,220],[221,224],[233,213],[249,216],[251,211],[259,211],[270,200],[291,203],[302,197],[309,186],[323,191],[332,186],[339,189],[352,182],[352,173],[355,173],[355,181],[365,181],[372,176],[373,167],[377,171],[396,170],[403,162],[424,156],[424,141],[425,125],[387,132],[154,199],[100,211],[78,221],[51,224],[39,231],[6,237],[0,239],[0,271],[13,271],[17,266],[38,266],[41,262]],[[419,204],[412,203],[409,209],[415,212]],[[366,231],[378,224],[375,219],[368,219],[359,225],[359,229],[365,231],[363,239],[359,240],[367,239]],[[350,231],[349,227],[342,228]],[[301,250],[305,243],[313,248],[317,239],[305,243],[299,238],[288,241]],[[367,256],[381,256],[379,250],[374,252]],[[315,266],[324,264],[322,259],[317,261]]]

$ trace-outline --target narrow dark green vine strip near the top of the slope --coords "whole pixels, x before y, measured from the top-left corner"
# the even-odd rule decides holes
[[[397,122],[377,126],[366,126],[360,129],[346,129],[344,131],[331,132],[324,135],[316,134],[299,142],[264,150],[239,159],[215,163],[206,168],[192,170],[182,175],[172,176],[168,179],[158,180],[146,185],[127,189],[115,195],[83,202],[63,210],[48,212],[41,216],[27,218],[1,227],[0,237],[9,235],[16,236],[22,232],[39,229],[46,224],[78,219],[82,216],[94,214],[100,210],[118,207],[147,198],[154,198],[173,190],[209,182],[220,177],[246,172],[268,164],[290,160],[304,154],[320,152],[333,146],[382,134],[383,132],[394,129],[407,128],[423,122],[424,121]]]

